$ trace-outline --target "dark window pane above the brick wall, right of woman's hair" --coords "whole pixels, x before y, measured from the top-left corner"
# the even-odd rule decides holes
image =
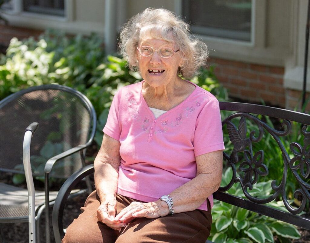
[[[183,0],[182,9],[194,33],[251,41],[251,0]]]

